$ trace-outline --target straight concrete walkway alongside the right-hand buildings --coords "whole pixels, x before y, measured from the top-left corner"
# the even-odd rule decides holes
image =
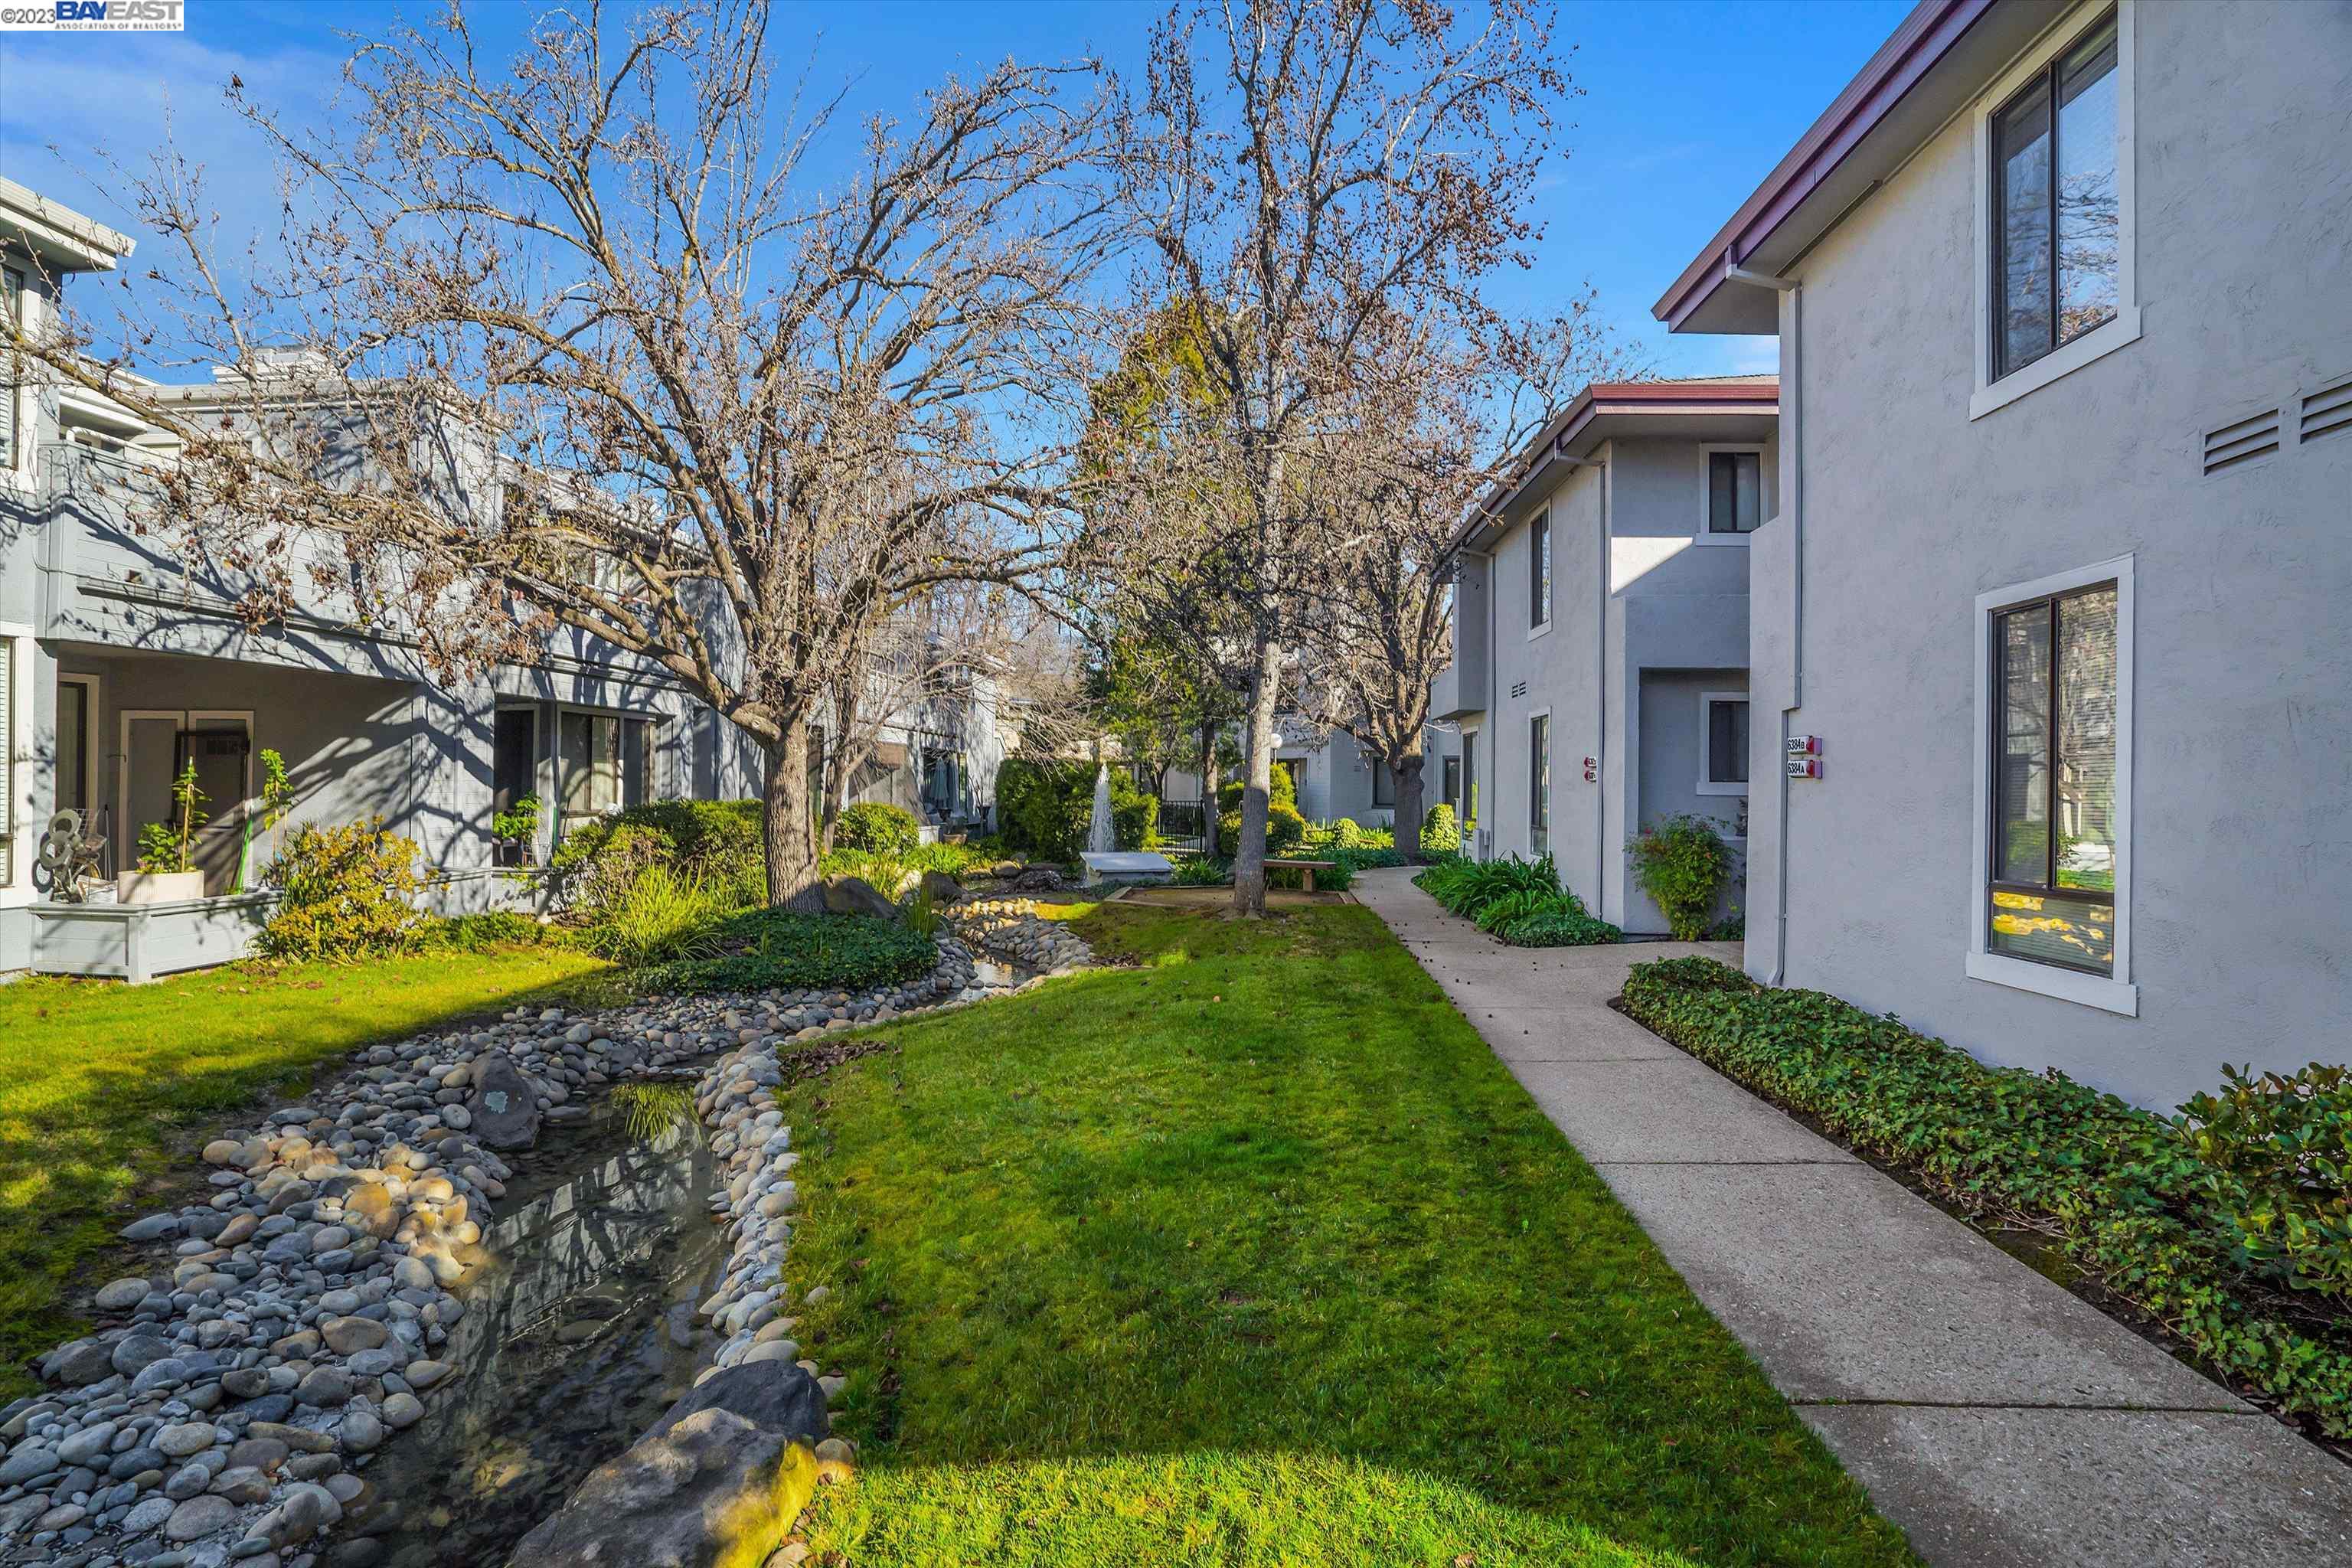
[[[1505,947],[1355,882],[1938,1568],[2352,1563],[2352,1469],[1606,1001],[1736,943]]]

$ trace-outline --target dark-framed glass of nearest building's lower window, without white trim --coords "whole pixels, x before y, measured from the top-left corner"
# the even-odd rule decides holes
[[[1985,950],[2114,973],[2117,590],[1992,618]]]

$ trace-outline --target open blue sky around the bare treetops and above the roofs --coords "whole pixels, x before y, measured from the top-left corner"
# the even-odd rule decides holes
[[[350,49],[341,33],[367,38],[393,16],[433,9],[430,0],[188,0],[181,35],[0,35],[0,174],[132,228],[103,176],[92,179],[101,169],[94,150],[134,155],[169,125],[207,167],[223,240],[238,237],[242,249],[242,235],[273,221],[273,172],[252,132],[223,110],[221,85],[235,73],[261,101],[332,115],[336,68]],[[468,9],[489,42],[506,42],[539,5],[475,0]],[[774,42],[788,73],[807,61],[811,89],[851,82],[851,108],[873,113],[1007,54],[1096,54],[1134,78],[1162,9],[1058,0],[793,5]],[[1559,115],[1562,158],[1543,181],[1538,266],[1501,280],[1498,303],[1543,310],[1590,277],[1602,313],[1658,371],[1771,369],[1769,339],[1672,339],[1649,306],[1907,9],[1910,0],[1562,5],[1555,47],[1583,96]]]

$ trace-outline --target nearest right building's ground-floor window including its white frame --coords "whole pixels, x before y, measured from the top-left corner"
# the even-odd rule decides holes
[[[2136,1013],[2131,562],[1978,602],[1983,889],[1969,973]]]

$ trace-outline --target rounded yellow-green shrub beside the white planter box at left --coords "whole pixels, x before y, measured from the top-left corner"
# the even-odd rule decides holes
[[[270,860],[282,891],[259,947],[273,959],[355,959],[414,947],[426,914],[416,842],[383,832],[383,818],[303,827]]]

